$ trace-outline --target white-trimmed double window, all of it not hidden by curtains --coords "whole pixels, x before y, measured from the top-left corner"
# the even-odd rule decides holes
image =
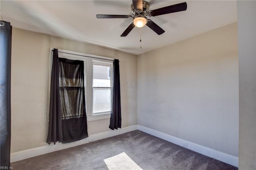
[[[58,49],[58,51],[59,57],[61,58],[84,62],[85,109],[87,121],[110,118],[112,58],[62,49]],[[92,57],[96,57],[97,59]],[[52,62],[52,59],[50,59],[50,61]],[[50,65],[52,65],[52,63],[50,63]]]

